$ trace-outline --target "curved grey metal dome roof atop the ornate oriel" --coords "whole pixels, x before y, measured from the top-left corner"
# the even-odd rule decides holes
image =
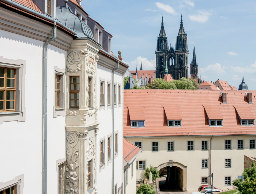
[[[73,29],[77,32],[76,37],[78,38],[86,38],[89,37],[92,40],[93,34],[89,26],[87,26],[86,23],[84,23],[83,20],[81,20],[76,14],[74,14],[69,6],[59,6],[56,7],[56,18],[68,26],[69,28]]]

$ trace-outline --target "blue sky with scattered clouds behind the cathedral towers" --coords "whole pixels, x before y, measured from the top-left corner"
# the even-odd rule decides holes
[[[112,38],[112,52],[135,70],[155,69],[155,49],[162,15],[168,45],[176,43],[180,13],[188,34],[189,63],[196,48],[202,80],[226,80],[238,88],[244,73],[256,90],[256,1],[103,1],[83,0],[82,6]],[[189,65],[190,66],[190,65]],[[190,69],[189,69],[190,72]]]

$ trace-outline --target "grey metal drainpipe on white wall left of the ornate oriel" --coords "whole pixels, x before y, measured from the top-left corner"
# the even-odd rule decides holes
[[[54,21],[54,28],[53,28],[53,36],[51,39],[45,41],[44,46],[43,46],[43,67],[44,67],[44,110],[43,110],[43,115],[44,115],[44,169],[43,169],[43,176],[44,176],[44,194],[47,194],[47,49],[48,49],[48,44],[52,41],[54,41],[57,37],[57,26],[56,26],[56,21]]]

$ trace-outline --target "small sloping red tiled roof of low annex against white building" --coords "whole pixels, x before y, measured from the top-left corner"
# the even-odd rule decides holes
[[[126,162],[130,162],[131,159],[140,151],[141,149],[131,142],[123,139],[123,158]]]

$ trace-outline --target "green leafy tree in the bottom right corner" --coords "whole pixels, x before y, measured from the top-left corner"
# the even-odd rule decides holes
[[[256,184],[256,167],[254,162],[251,163],[251,168],[245,168],[242,175],[244,180],[235,178],[232,185],[237,187],[241,194],[254,194]]]

